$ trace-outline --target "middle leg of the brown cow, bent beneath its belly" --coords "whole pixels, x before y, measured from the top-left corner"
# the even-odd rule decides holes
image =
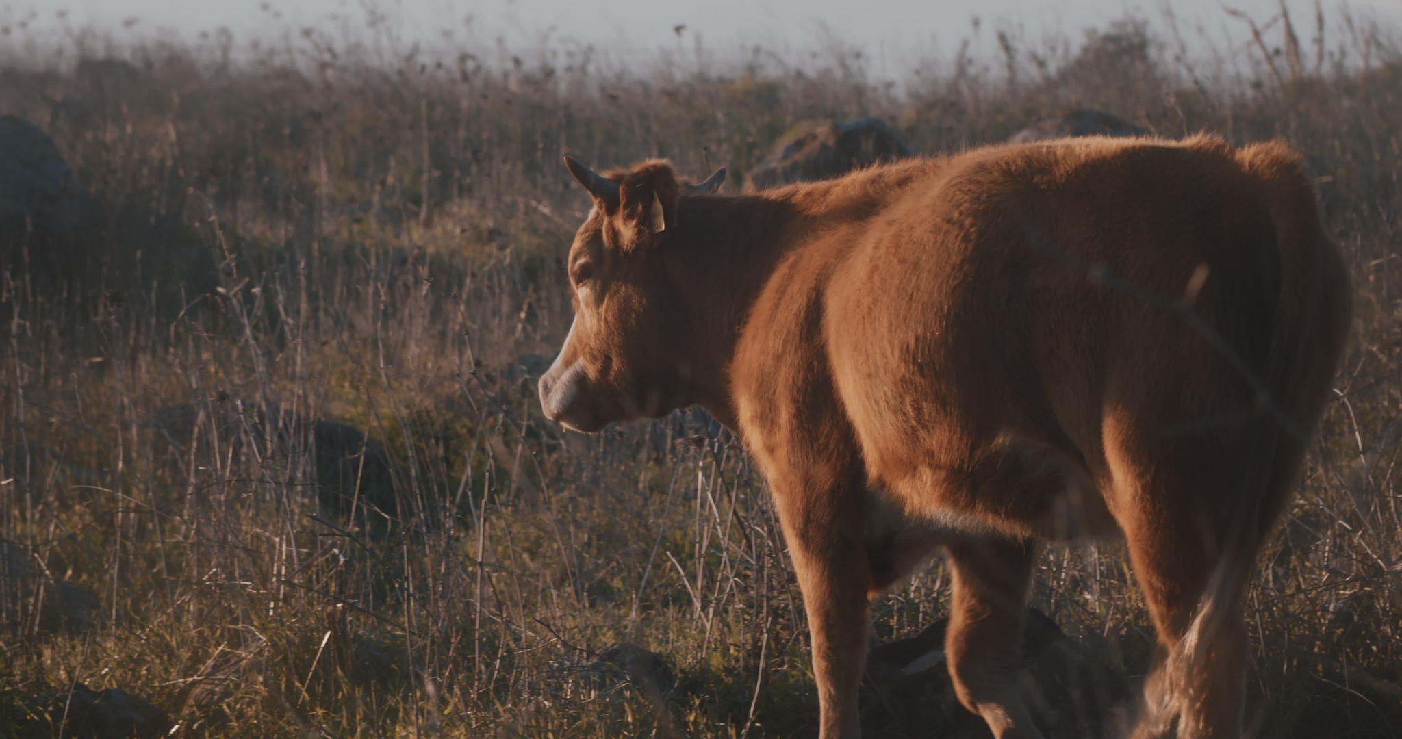
[[[959,701],[998,739],[1040,738],[1018,689],[1035,547],[1009,538],[949,545],[953,574],[945,656]]]

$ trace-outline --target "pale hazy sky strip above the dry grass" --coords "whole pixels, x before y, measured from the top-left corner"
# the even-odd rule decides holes
[[[1286,0],[1301,25],[1302,41],[1312,31],[1314,0]],[[1237,7],[1259,21],[1276,11],[1279,0],[1176,0],[1173,11],[1189,36],[1199,25],[1218,48],[1245,42],[1246,27],[1223,6]],[[1402,27],[1402,0],[1323,0],[1328,11],[1350,8]],[[986,28],[1021,28],[1026,35],[1061,32],[1071,38],[1091,25],[1136,13],[1159,18],[1165,0],[0,0],[0,22],[29,17],[29,31],[62,32],[62,24],[109,29],[116,38],[150,38],[172,29],[188,41],[199,31],[227,27],[240,41],[289,28],[365,28],[367,8],[383,13],[400,41],[465,46],[503,38],[512,48],[573,41],[608,46],[627,59],[659,48],[690,48],[700,34],[711,49],[737,43],[773,45],[777,50],[824,46],[836,36],[862,48],[882,66],[900,66],[923,55],[952,53],[977,15]],[[66,18],[57,20],[60,10]],[[122,21],[139,22],[123,28]],[[686,24],[681,36],[673,27]],[[1338,24],[1332,31],[1338,32]],[[444,36],[450,31],[451,38]]]

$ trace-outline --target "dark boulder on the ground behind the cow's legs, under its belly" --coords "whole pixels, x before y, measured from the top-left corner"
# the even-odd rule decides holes
[[[955,696],[945,662],[948,625],[942,618],[916,637],[871,651],[864,736],[991,736],[983,718],[965,710]],[[1036,609],[1028,609],[1022,667],[1022,697],[1044,736],[1117,735],[1113,710],[1127,694],[1126,677],[1101,665]]]

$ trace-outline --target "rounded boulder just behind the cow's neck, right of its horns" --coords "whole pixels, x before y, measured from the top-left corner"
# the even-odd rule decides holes
[[[744,178],[744,191],[827,179],[858,167],[911,156],[894,129],[879,118],[829,121],[792,132]]]

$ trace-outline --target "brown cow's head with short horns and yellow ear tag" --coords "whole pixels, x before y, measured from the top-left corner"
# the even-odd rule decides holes
[[[660,160],[607,177],[571,157],[565,165],[594,208],[565,262],[575,323],[540,380],[545,416],[593,432],[611,421],[658,418],[697,402],[687,359],[688,314],[677,294],[677,280],[686,275],[674,269],[667,247],[679,241],[681,196],[715,192],[725,168],[690,185]]]

